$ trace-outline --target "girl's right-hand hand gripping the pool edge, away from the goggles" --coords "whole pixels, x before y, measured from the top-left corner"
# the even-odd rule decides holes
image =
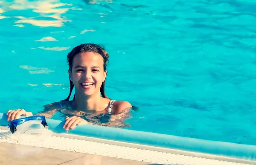
[[[82,124],[87,124],[88,122],[81,117],[73,116],[73,117],[67,117],[65,118],[66,122],[63,125],[63,128],[65,130],[70,130],[74,129],[76,125],[82,125]]]

